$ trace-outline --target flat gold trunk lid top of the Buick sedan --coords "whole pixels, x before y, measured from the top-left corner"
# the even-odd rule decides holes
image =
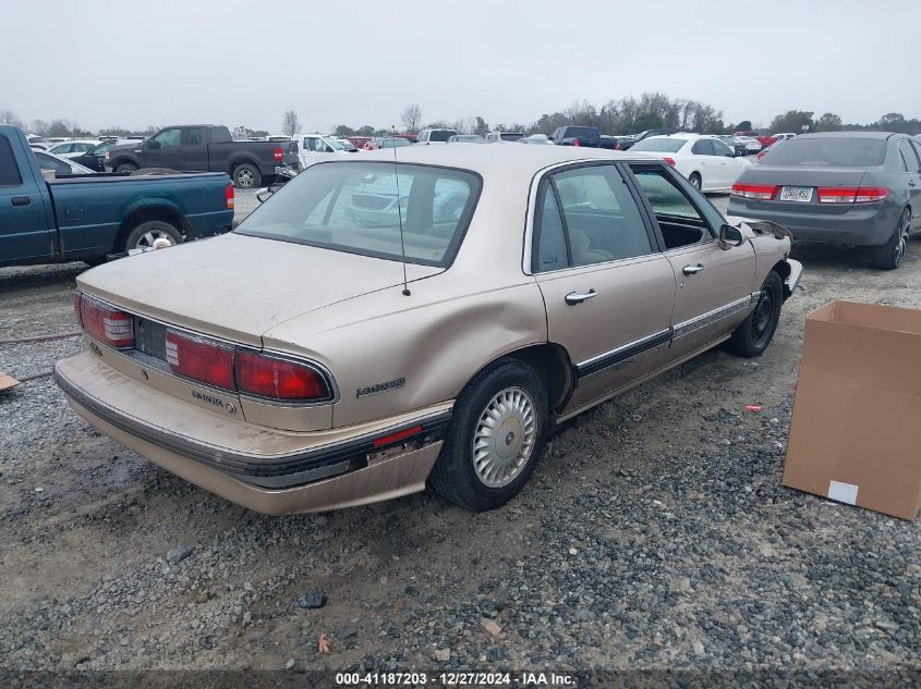
[[[440,271],[407,266],[409,280]],[[228,234],[107,263],[77,285],[145,319],[262,346],[291,318],[402,280],[399,261]]]

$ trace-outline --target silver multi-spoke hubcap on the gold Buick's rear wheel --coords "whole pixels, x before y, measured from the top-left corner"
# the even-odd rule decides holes
[[[488,488],[511,483],[531,458],[537,435],[534,401],[506,387],[486,405],[473,433],[473,469]]]

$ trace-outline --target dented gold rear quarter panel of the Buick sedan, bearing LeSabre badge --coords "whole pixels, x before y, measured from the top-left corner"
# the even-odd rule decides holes
[[[265,333],[264,346],[326,366],[339,390],[334,426],[455,399],[478,370],[504,354],[547,340],[536,283],[471,291],[450,271],[298,317]],[[404,383],[359,396],[380,383]]]

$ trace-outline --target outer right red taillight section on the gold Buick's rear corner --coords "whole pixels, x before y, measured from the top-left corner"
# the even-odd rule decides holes
[[[330,396],[326,379],[315,368],[246,349],[237,353],[237,385],[242,394],[279,402]]]

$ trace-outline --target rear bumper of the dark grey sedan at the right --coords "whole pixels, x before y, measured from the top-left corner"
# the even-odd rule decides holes
[[[886,204],[852,207],[845,213],[797,213],[771,208],[775,201],[746,202],[729,198],[727,212],[769,220],[793,233],[798,242],[822,242],[850,246],[880,246],[892,236],[898,216],[889,212]]]

